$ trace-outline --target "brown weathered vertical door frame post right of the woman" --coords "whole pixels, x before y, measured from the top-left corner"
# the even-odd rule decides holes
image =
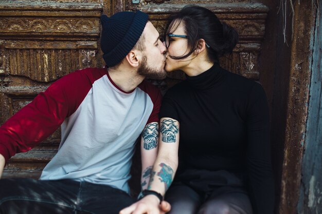
[[[303,8],[306,8],[303,10]],[[291,47],[290,83],[285,129],[279,213],[295,214],[299,199],[303,144],[307,130],[312,59],[311,37],[316,10],[311,1],[294,5],[294,37]]]

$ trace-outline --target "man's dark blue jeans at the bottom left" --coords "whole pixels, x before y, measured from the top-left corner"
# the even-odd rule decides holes
[[[134,202],[128,193],[108,185],[73,180],[0,180],[2,214],[117,214]]]

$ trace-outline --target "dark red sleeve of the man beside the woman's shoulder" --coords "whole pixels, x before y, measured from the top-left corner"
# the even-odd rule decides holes
[[[162,102],[162,94],[160,90],[147,81],[143,81],[138,87],[150,96],[153,103],[153,110],[150,114],[147,124],[159,122],[159,111]]]

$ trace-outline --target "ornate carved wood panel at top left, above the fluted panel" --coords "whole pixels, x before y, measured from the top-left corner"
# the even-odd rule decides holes
[[[0,38],[96,41],[101,10],[95,3],[1,1]]]

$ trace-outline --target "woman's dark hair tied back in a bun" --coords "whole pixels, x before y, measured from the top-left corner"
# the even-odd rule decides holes
[[[184,22],[190,50],[183,56],[170,56],[172,59],[181,60],[188,57],[197,48],[198,41],[203,38],[210,46],[207,48],[208,59],[211,62],[218,62],[219,57],[231,53],[238,42],[236,29],[221,23],[213,12],[203,7],[189,5],[170,16],[165,35],[175,30],[174,21]]]

